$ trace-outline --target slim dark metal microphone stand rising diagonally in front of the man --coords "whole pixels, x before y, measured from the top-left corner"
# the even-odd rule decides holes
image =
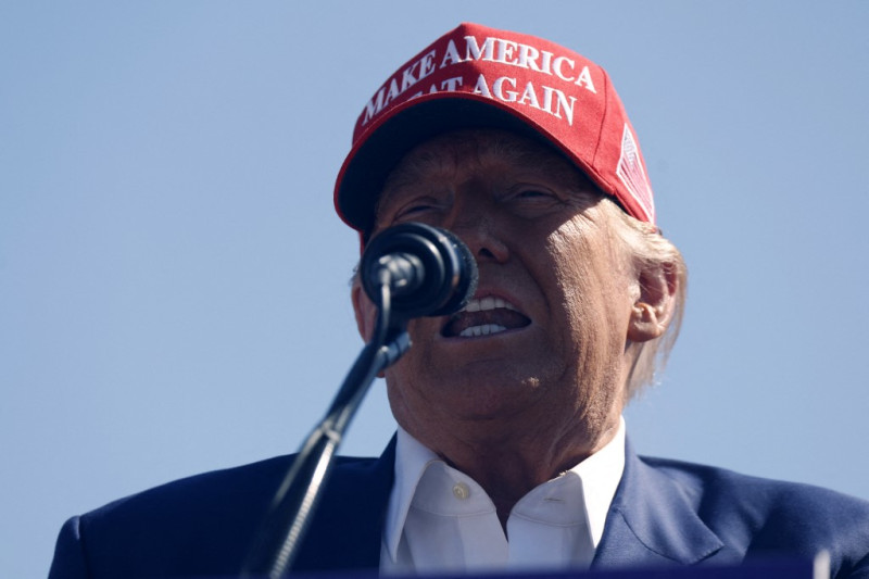
[[[387,280],[385,280],[387,281]],[[307,521],[331,470],[344,430],[375,377],[407,351],[406,319],[390,319],[391,290],[380,284],[377,324],[328,412],[302,444],[248,552],[241,577],[280,579],[291,567]]]

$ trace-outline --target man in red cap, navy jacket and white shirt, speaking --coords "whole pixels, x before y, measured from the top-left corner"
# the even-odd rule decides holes
[[[655,227],[638,140],[603,70],[465,24],[364,108],[336,186],[363,243],[421,222],[480,270],[453,316],[411,322],[386,370],[399,432],[342,460],[300,571],[736,565],[829,553],[869,577],[869,504],[637,456],[621,411],[678,330],[685,268]],[[361,333],[375,309],[352,290]],[[51,576],[231,576],[290,457],[67,521]]]

